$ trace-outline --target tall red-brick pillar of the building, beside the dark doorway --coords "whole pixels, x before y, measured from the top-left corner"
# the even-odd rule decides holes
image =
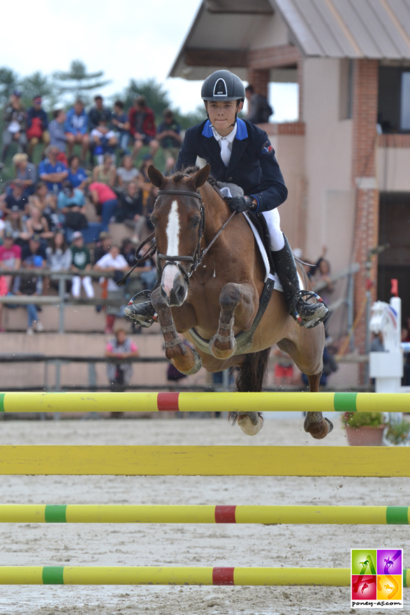
[[[375,180],[376,121],[378,94],[378,61],[358,59],[353,66],[353,156],[351,179],[356,189],[356,224],[353,256],[360,263],[355,280],[356,316],[363,308],[366,296],[365,261],[370,249],[379,238],[379,191]],[[372,259],[370,278],[372,300],[376,298],[377,259]],[[365,352],[365,310],[356,328],[355,342],[360,352]]]

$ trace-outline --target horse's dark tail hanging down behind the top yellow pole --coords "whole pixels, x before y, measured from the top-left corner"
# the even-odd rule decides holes
[[[236,390],[242,393],[258,393],[262,391],[263,384],[265,384],[266,373],[268,372],[270,348],[260,350],[259,352],[250,352],[245,354],[244,362],[240,368],[240,372],[236,378]],[[249,412],[249,415],[254,414],[254,417],[250,417],[254,424],[257,424],[258,417],[261,416],[260,412]],[[229,412],[229,422],[235,425],[237,421],[238,413]]]

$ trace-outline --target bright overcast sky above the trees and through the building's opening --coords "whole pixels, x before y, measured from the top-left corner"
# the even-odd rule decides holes
[[[200,82],[166,79],[200,0],[20,0],[1,6],[0,66],[20,75],[68,70],[71,60],[112,82],[102,90],[122,92],[130,78],[156,78],[174,107],[200,103]],[[295,84],[274,84],[274,120],[296,115]],[[271,118],[272,119],[272,118]]]

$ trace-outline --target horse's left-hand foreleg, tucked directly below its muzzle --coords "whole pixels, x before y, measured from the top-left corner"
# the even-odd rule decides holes
[[[152,305],[158,314],[161,332],[165,343],[166,358],[186,376],[196,374],[202,366],[202,361],[196,350],[186,347],[177,333],[173,314],[161,295],[161,288],[155,289],[151,295]]]

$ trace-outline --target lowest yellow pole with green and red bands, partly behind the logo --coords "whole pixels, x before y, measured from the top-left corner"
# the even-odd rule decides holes
[[[407,574],[405,574],[406,577]],[[0,566],[0,585],[316,585],[344,587],[349,586],[350,583],[349,568]]]

